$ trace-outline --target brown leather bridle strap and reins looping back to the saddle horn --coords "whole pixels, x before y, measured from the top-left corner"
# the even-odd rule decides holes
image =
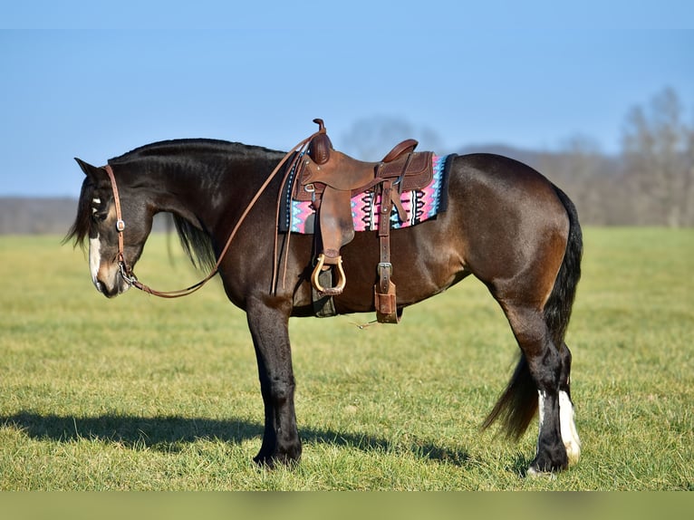
[[[296,166],[298,163],[299,159],[301,159],[302,154],[306,151],[308,148],[309,144],[311,143],[311,140],[315,136],[317,136],[320,133],[324,133],[324,130],[318,130],[314,132],[311,136],[307,137],[306,139],[300,141],[299,143],[294,146],[293,149],[288,151],[285,155],[284,158],[277,164],[275,169],[272,171],[272,173],[268,176],[268,178],[265,179],[265,182],[263,185],[258,188],[258,190],[255,192],[255,196],[251,199],[251,201],[248,203],[248,206],[246,206],[246,209],[244,212],[241,214],[241,217],[238,218],[238,221],[236,222],[236,226],[232,229],[231,233],[229,234],[229,237],[227,238],[227,244],[224,246],[224,249],[222,249],[222,252],[219,254],[219,257],[217,258],[217,264],[213,267],[212,271],[207,274],[205,278],[200,280],[197,284],[190,285],[189,287],[186,287],[185,289],[178,289],[176,291],[157,291],[155,289],[152,289],[148,285],[142,284],[140,280],[137,279],[135,274],[132,273],[132,269],[128,266],[128,264],[125,261],[125,255],[123,254],[124,251],[124,245],[123,245],[123,231],[125,230],[125,222],[123,221],[122,213],[120,211],[120,196],[118,193],[118,185],[116,184],[116,177],[113,175],[113,169],[111,168],[111,165],[106,165],[103,167],[103,169],[106,170],[106,173],[109,175],[109,179],[111,180],[111,190],[113,192],[113,200],[115,202],[116,206],[116,230],[118,231],[118,265],[119,265],[119,272],[120,276],[125,280],[127,284],[129,284],[132,287],[136,287],[140,289],[140,291],[143,291],[147,294],[152,294],[154,296],[159,296],[160,298],[180,298],[181,296],[188,296],[188,294],[193,294],[200,287],[202,287],[204,284],[207,284],[209,280],[211,280],[215,274],[219,271],[219,266],[222,264],[222,261],[224,260],[225,255],[227,255],[227,251],[229,249],[229,246],[231,246],[231,242],[234,239],[234,236],[236,236],[236,232],[238,231],[239,227],[243,224],[244,220],[246,220],[246,217],[248,216],[248,213],[250,213],[251,209],[255,206],[255,203],[258,201],[258,198],[265,192],[265,189],[269,186],[270,182],[272,181],[273,178],[275,178],[275,175],[277,175],[277,172],[282,169],[284,166],[284,163],[290,159],[292,156],[294,156],[294,159],[292,161],[292,164],[290,168],[286,170],[285,178],[290,174],[292,169]],[[284,181],[282,183],[284,185]],[[276,256],[276,248],[277,248],[277,239],[276,239],[276,234],[275,234],[275,256]],[[273,291],[275,291],[275,277],[276,277],[276,262],[275,262],[275,272],[273,274]]]

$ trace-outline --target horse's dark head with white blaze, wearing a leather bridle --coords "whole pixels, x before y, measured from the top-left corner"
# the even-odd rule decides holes
[[[77,208],[77,217],[66,240],[83,245],[89,239],[89,266],[92,282],[101,294],[112,298],[130,288],[131,269],[140,259],[152,226],[152,213],[146,201],[119,176],[121,221],[108,173],[77,160],[86,175]],[[122,236],[122,258],[119,235]]]

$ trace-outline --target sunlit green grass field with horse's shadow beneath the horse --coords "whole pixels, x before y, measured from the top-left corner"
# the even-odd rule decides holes
[[[692,490],[694,230],[584,235],[567,336],[583,457],[556,479],[519,477],[536,426],[517,444],[479,429],[517,348],[475,280],[398,326],[293,319],[304,457],[267,471],[246,317],[217,283],[107,301],[61,237],[0,237],[0,489]],[[166,240],[140,278],[197,280]]]

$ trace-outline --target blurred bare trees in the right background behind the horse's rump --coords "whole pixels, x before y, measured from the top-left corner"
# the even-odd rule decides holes
[[[694,126],[684,114],[665,89],[628,112],[617,157],[576,139],[536,168],[574,199],[585,224],[694,226]]]

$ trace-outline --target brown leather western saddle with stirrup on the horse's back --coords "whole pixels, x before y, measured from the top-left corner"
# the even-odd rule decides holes
[[[379,162],[364,162],[333,149],[323,120],[300,163],[293,197],[311,200],[317,213],[321,253],[316,258],[311,282],[319,294],[341,294],[346,284],[342,269],[342,246],[354,238],[352,197],[366,191],[381,195],[379,215],[379,241],[381,258],[376,271],[378,281],[374,285],[376,317],[381,323],[398,323],[395,284],[390,280],[390,216],[393,207],[401,221],[407,219],[400,196],[404,191],[429,186],[433,178],[432,152],[414,152],[418,142],[404,140],[390,150]],[[337,271],[337,283],[324,287],[321,274],[333,268]]]

